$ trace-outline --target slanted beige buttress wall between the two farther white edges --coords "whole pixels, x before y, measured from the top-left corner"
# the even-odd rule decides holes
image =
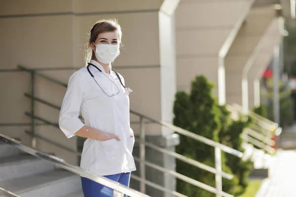
[[[261,38],[267,36],[267,30],[270,24],[273,22],[273,19],[275,19],[275,14],[276,12],[274,6],[272,5],[253,7],[246,19],[246,23],[240,29],[237,37],[235,38],[225,58],[227,103],[231,104],[235,102],[240,105],[243,104],[242,79],[244,67],[246,66],[248,60],[252,58],[252,55],[254,55],[254,53],[257,53],[256,47],[258,48],[258,44],[260,43]],[[278,35],[278,27],[279,23],[277,23],[277,29],[273,29],[271,32]],[[267,51],[269,51],[269,49],[273,48],[273,45],[262,45],[260,47],[263,47],[264,49],[265,47],[271,47],[267,49]],[[263,54],[261,54],[260,52],[258,53],[259,59],[260,55]],[[269,57],[270,55],[271,54],[268,54]],[[263,59],[264,57],[261,56],[261,58]],[[266,62],[264,62],[264,64],[266,64]],[[261,68],[262,66],[259,67]],[[256,66],[252,66],[249,72],[253,73],[252,70],[256,69]]]

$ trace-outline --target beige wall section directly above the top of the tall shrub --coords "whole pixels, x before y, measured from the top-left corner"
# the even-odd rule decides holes
[[[183,0],[176,11],[177,88],[189,91],[196,75],[215,84],[218,97],[218,54],[250,0]]]

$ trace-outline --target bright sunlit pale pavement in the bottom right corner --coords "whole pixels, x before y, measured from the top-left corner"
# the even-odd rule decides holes
[[[296,197],[296,151],[278,150],[256,197]]]

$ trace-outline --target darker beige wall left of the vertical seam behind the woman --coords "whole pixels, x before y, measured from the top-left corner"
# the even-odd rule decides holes
[[[29,68],[64,67],[73,65],[73,16],[71,15],[32,15],[55,12],[69,12],[72,2],[68,1],[2,1],[0,18],[0,68],[14,69],[17,65]],[[56,6],[57,5],[57,6]],[[24,9],[27,7],[27,9]],[[56,8],[58,7],[58,8]],[[56,9],[55,9],[56,8]],[[24,15],[25,14],[25,15]],[[26,15],[30,14],[30,15]],[[6,15],[6,16],[5,16]],[[49,72],[57,79],[67,80],[73,71]],[[45,72],[47,73],[47,72]],[[31,112],[30,99],[24,93],[31,91],[31,76],[27,72],[0,72],[1,92],[1,123],[31,123],[31,119],[24,115]],[[55,84],[44,81],[40,77],[35,80],[35,96],[61,105],[65,90]],[[9,85],[7,85],[9,84]],[[36,103],[36,115],[53,123],[57,123],[58,110]],[[10,113],[11,115],[7,116]],[[37,123],[40,123],[37,121]],[[24,133],[31,131],[31,127],[0,128],[0,132],[11,137],[21,137],[26,145],[30,145],[31,138]],[[75,149],[75,138],[65,140],[60,130],[51,126],[36,126],[35,131],[50,139],[63,140],[63,144]],[[42,144],[42,146],[41,146]],[[37,141],[37,148],[44,152],[53,152],[52,146],[44,141]],[[59,151],[56,154],[75,163],[75,158],[68,157],[68,152]]]

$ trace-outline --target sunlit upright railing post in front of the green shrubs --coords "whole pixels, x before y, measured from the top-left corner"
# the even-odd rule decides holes
[[[217,195],[216,197],[222,197],[222,161],[221,161],[221,148],[215,147],[215,168],[217,173],[215,175],[216,180],[216,189]]]

